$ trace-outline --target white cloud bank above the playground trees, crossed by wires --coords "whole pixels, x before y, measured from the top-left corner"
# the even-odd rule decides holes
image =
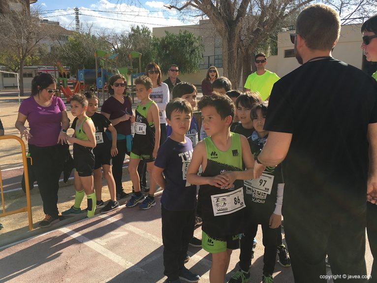
[[[126,32],[130,30],[131,25],[145,25],[152,30],[153,27],[161,26],[182,26],[185,24],[194,24],[184,22],[178,19],[177,11],[169,11],[163,7],[162,1],[148,1],[146,6],[153,8],[150,12],[145,7],[129,5],[126,3],[115,4],[108,0],[96,0],[95,3],[88,7],[79,7],[80,9],[80,25],[84,28],[86,25],[93,26],[96,31],[115,31]],[[74,7],[67,7],[74,8]],[[94,11],[96,10],[96,11]],[[67,15],[69,14],[69,15]],[[48,14],[49,20],[59,21],[61,26],[69,29],[75,29],[75,15],[73,10],[58,11],[55,14]]]

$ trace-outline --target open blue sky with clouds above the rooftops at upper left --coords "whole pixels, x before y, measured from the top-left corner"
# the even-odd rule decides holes
[[[41,10],[42,18],[59,21],[69,30],[75,29],[73,8],[76,6],[80,9],[82,27],[90,25],[96,31],[129,31],[131,25],[145,25],[152,30],[153,27],[197,23],[192,18],[183,20],[179,12],[168,10],[164,7],[167,3],[168,0],[38,0],[33,6]]]

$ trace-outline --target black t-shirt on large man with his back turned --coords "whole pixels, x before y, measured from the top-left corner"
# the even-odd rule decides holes
[[[365,211],[370,123],[377,123],[377,82],[344,62],[308,62],[275,83],[264,128],[292,133],[283,214]]]

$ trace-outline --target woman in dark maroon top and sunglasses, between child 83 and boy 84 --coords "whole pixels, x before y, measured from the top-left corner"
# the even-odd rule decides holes
[[[135,122],[131,108],[131,100],[126,94],[127,81],[123,75],[114,75],[109,79],[110,96],[101,107],[101,114],[110,120],[117,130],[118,155],[112,158],[113,177],[117,192],[117,200],[125,198],[128,194],[122,188],[123,162],[126,153],[131,151],[131,123]],[[111,140],[111,133],[106,130],[107,137]]]

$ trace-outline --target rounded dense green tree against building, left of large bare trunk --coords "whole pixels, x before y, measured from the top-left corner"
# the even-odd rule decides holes
[[[203,57],[204,45],[201,37],[189,31],[178,34],[165,31],[164,37],[158,38],[157,58],[163,73],[167,73],[170,64],[177,64],[180,73],[194,73],[199,70]]]

